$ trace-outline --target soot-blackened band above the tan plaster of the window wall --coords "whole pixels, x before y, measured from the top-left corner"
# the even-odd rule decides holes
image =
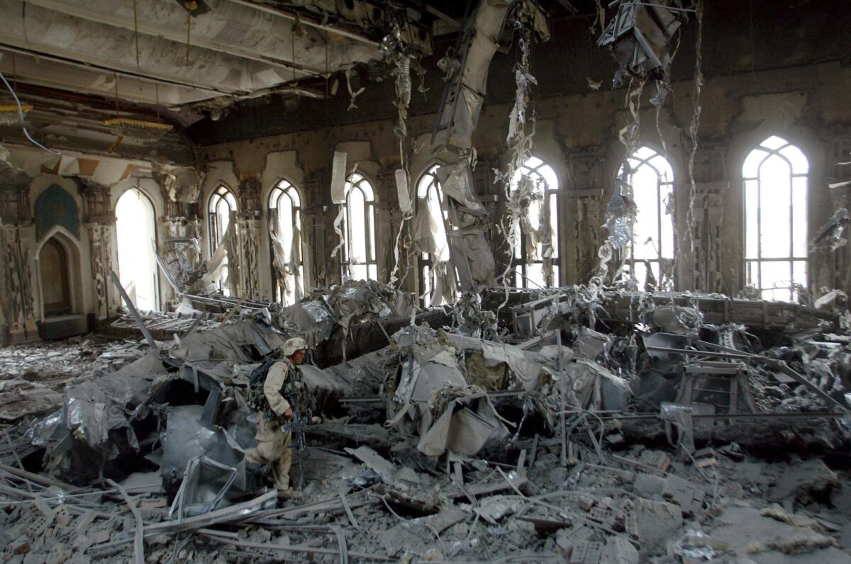
[[[429,3],[432,5],[433,3]],[[542,98],[591,92],[589,81],[597,88],[612,88],[617,62],[605,48],[597,47],[601,26],[595,26],[594,3],[573,3],[578,13],[571,15],[561,3],[549,3],[551,39],[535,46],[531,57],[532,73],[540,78],[537,96]],[[770,4],[770,5],[769,5]],[[754,14],[742,12],[739,2],[720,0],[706,9],[705,33],[722,37],[705,48],[703,71],[705,77],[735,75],[753,71],[780,69],[828,60],[848,60],[845,43],[851,15],[831,0],[807,3],[807,17],[800,19],[801,9],[793,4],[778,6],[774,2],[753,3]],[[456,6],[445,7],[444,16],[463,18]],[[769,9],[770,8],[770,9]],[[440,18],[437,18],[440,20]],[[441,20],[443,21],[443,20]],[[776,30],[794,23],[794,32],[778,35]],[[443,73],[437,61],[454,48],[456,31],[434,37],[434,53],[424,57],[422,66],[430,69],[424,77],[428,92],[414,92],[409,115],[422,116],[437,111],[443,90]],[[679,54],[671,65],[671,80],[689,80],[694,71],[694,27],[686,26],[679,42]],[[510,44],[506,41],[506,44]],[[487,105],[511,103],[514,99],[513,50],[502,49],[494,56],[488,73]],[[568,62],[566,62],[568,61]],[[345,80],[329,82],[328,98],[323,100],[299,97],[294,99],[272,94],[254,100],[239,101],[218,121],[205,117],[187,128],[187,134],[197,145],[214,145],[234,140],[248,140],[275,134],[287,134],[314,128],[329,128],[352,123],[393,119],[392,81],[386,80],[386,69],[364,66],[351,75],[353,89],[366,87],[370,100],[377,103],[348,109],[351,96]],[[420,79],[414,76],[414,81]],[[324,78],[317,79],[316,88],[325,91]],[[621,94],[618,94],[619,96]]]

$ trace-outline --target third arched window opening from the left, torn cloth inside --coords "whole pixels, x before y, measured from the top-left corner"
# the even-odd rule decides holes
[[[275,299],[282,305],[293,305],[304,295],[301,197],[286,180],[278,182],[269,194],[269,237]]]

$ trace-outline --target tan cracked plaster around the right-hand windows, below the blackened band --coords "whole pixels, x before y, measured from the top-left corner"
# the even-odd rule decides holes
[[[674,168],[677,198],[677,242],[680,246],[677,283],[680,289],[696,288],[738,293],[742,273],[742,194],[741,164],[751,147],[771,134],[778,134],[801,147],[810,162],[808,223],[810,234],[831,217],[839,205],[848,205],[847,191],[829,191],[828,179],[835,170],[837,153],[851,151],[851,105],[847,85],[851,70],[839,63],[822,63],[795,69],[758,71],[706,78],[702,94],[699,150],[695,157],[695,253],[688,248],[685,217],[688,213],[688,126],[692,115],[692,83],[675,83],[674,93],[660,110],[659,128],[665,140],[668,159]],[[656,127],[656,110],[648,103],[648,86],[640,111],[639,139],[661,151]],[[617,138],[629,122],[624,107],[625,89],[589,91],[584,94],[554,96],[537,101],[537,130],[533,152],[557,172],[561,190],[560,241],[562,283],[587,282],[596,265],[597,246],[605,238],[603,213],[613,188],[614,175],[624,155]],[[502,187],[490,184],[489,168],[499,167],[505,158],[508,104],[486,105],[474,139],[477,149],[477,191],[496,225],[502,211]],[[410,174],[412,190],[432,162],[440,155],[425,154],[433,115],[408,119],[409,140],[414,140]],[[844,147],[844,149],[843,149]],[[387,281],[392,268],[390,242],[398,225],[398,211],[392,171],[398,165],[398,141],[391,120],[377,120],[337,128],[323,128],[295,134],[271,135],[248,141],[211,145],[199,150],[206,161],[231,159],[241,174],[260,174],[265,182],[280,175],[296,175],[318,181],[308,183],[305,196],[316,210],[313,231],[306,230],[306,245],[328,249],[317,256],[308,252],[307,270],[316,281],[337,282],[339,268],[317,265],[330,262],[329,250],[336,245],[332,229],[335,210],[330,204],[328,184],[334,150],[350,152],[349,164],[362,161],[361,168],[376,190],[377,240],[380,279]],[[266,163],[266,155],[277,151],[294,153],[290,162]],[[296,164],[298,163],[298,164]],[[265,165],[265,166],[264,166]],[[274,171],[271,168],[275,168]],[[846,167],[847,168],[847,167]],[[208,177],[208,182],[210,181]],[[267,191],[268,185],[262,190]],[[493,202],[494,197],[499,201]],[[843,203],[844,202],[844,203]],[[326,208],[319,212],[319,205]],[[260,210],[262,213],[262,210]],[[492,236],[501,236],[493,229]],[[313,237],[311,239],[311,236]],[[494,245],[498,250],[499,245]],[[811,288],[837,287],[848,268],[848,251],[811,256]],[[260,268],[269,271],[268,252],[260,254]],[[270,276],[265,276],[269,278]],[[271,283],[271,282],[270,282]],[[405,287],[419,291],[415,271],[408,272]],[[264,293],[264,296],[271,295]]]

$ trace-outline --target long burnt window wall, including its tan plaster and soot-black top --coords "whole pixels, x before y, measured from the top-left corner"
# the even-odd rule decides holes
[[[743,288],[741,168],[751,148],[768,136],[784,137],[808,157],[810,236],[836,208],[848,205],[847,189],[827,188],[829,182],[851,176],[848,166],[835,164],[848,160],[851,151],[847,95],[851,69],[839,37],[840,24],[848,14],[831,2],[799,4],[795,9],[785,3],[755,2],[751,26],[751,14],[739,4],[707,3],[694,198],[690,197],[688,175],[693,146],[689,126],[695,101],[694,22],[683,32],[672,70],[671,94],[657,109],[649,103],[654,87],[648,83],[637,111],[639,142],[666,151],[674,170],[680,289],[735,294]],[[534,96],[533,152],[554,168],[559,181],[562,284],[587,282],[597,265],[597,248],[607,236],[603,214],[614,175],[625,157],[619,132],[634,120],[625,105],[627,89],[605,86],[611,83],[614,62],[594,46],[590,23],[586,19],[553,22],[553,41],[533,48],[532,71],[539,81]],[[504,54],[494,60],[474,139],[477,190],[492,214],[490,235],[497,251],[503,240],[496,228],[502,214],[502,187],[493,184],[491,169],[500,168],[506,157],[505,136],[513,101],[512,56]],[[424,147],[441,89],[436,75],[437,71],[429,72],[427,100],[420,94],[414,97],[408,120],[414,184],[434,162]],[[603,87],[591,88],[594,82]],[[379,278],[385,282],[389,278],[400,220],[392,183],[392,171],[399,162],[398,140],[393,135],[396,108],[389,88],[388,83],[370,84],[351,111],[346,111],[347,97],[339,104],[302,100],[295,110],[283,105],[239,108],[200,140],[202,162],[232,162],[240,174],[264,179],[255,214],[266,213],[263,194],[271,190],[275,179],[299,185],[306,199],[303,231],[310,285],[339,280],[339,265],[329,257],[338,243],[332,227],[336,207],[328,193],[334,150],[348,151],[350,164],[359,162],[358,170],[375,187]],[[205,127],[199,124],[197,132],[207,131]],[[223,140],[226,142],[207,144]],[[287,164],[280,160],[270,164],[269,156],[278,153],[290,155]],[[214,183],[208,176],[208,185]],[[692,215],[689,229],[687,218]],[[694,237],[694,252],[689,233]],[[271,296],[267,238],[260,237],[258,251],[260,294],[266,297]],[[821,286],[851,290],[849,262],[846,249],[811,254],[810,287],[816,291]],[[409,267],[405,286],[420,291],[413,256]]]

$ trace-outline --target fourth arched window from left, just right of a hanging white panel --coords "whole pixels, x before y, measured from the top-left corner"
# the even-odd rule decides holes
[[[346,182],[346,213],[343,221],[342,279],[375,280],[375,192],[368,179],[351,174]]]

